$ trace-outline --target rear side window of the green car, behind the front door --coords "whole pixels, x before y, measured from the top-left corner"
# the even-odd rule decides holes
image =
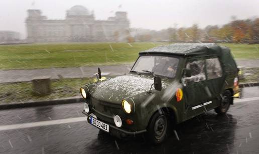
[[[222,76],[222,69],[218,58],[206,59],[207,76],[209,79],[215,79]]]

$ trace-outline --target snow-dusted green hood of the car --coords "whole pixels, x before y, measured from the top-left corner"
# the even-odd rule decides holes
[[[117,104],[125,97],[149,91],[153,83],[153,76],[129,74],[99,81],[90,91],[95,99]]]

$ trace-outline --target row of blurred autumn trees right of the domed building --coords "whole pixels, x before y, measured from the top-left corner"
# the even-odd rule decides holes
[[[204,29],[194,24],[188,28],[145,30],[135,36],[135,41],[259,43],[259,18],[232,20],[222,27],[209,25]]]

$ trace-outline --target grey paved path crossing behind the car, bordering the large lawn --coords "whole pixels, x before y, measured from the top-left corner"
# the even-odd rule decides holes
[[[236,60],[236,62],[242,67],[259,67],[259,60]],[[131,70],[132,65],[0,70],[0,83],[31,81],[35,77],[42,76],[49,76],[51,79],[93,77],[97,73],[97,67],[101,69],[103,76],[123,75]]]

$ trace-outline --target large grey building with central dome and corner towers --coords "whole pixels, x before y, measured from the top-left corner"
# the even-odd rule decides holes
[[[67,11],[65,20],[48,20],[40,10],[28,10],[28,42],[123,42],[130,23],[126,12],[116,12],[108,20],[95,20],[94,13],[83,6]]]

